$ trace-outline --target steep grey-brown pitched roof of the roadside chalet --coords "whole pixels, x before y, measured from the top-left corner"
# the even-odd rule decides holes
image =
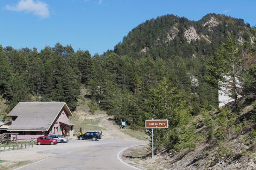
[[[65,102],[19,102],[8,114],[17,116],[8,130],[47,131],[62,108],[72,116]]]

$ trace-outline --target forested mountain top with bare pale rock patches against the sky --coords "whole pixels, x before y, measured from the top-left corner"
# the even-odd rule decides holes
[[[151,55],[154,59],[183,59],[214,54],[228,34],[243,41],[253,42],[256,30],[244,20],[219,14],[207,14],[199,21],[185,17],[164,15],[147,20],[128,33],[114,48],[116,54],[133,57]]]

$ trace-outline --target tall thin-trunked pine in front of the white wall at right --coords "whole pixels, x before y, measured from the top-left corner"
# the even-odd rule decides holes
[[[210,75],[209,81],[215,85],[220,81],[227,82],[232,87],[232,97],[235,100],[236,111],[238,111],[237,82],[244,69],[244,58],[240,54],[239,45],[232,32],[226,42],[222,42],[216,54],[212,56],[207,69]]]

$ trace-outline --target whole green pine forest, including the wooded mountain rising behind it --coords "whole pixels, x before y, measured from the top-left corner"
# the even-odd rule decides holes
[[[256,94],[255,34],[243,20],[224,15],[198,22],[165,15],[140,24],[102,56],[60,43],[40,52],[0,46],[0,94],[9,106],[3,121],[20,101],[64,101],[75,110],[83,85],[92,110],[100,101],[100,109],[134,129],[145,119],[169,119],[170,128],[156,130],[157,150],[193,148],[202,139],[192,122],[198,114],[206,119],[208,142],[229,129],[215,133],[216,117],[207,114],[218,108],[218,81],[232,65],[227,59],[243,61],[233,69],[244,83],[239,93]],[[223,114],[221,123],[231,112]]]

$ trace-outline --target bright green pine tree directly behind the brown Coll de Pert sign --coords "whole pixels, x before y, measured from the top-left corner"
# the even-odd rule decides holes
[[[169,128],[155,130],[154,144],[157,150],[162,147],[172,148],[178,141],[177,127],[181,121],[180,114],[184,111],[186,101],[183,99],[183,94],[176,87],[172,87],[171,83],[165,78],[157,88],[150,90],[151,94],[148,99],[145,99],[145,105],[148,110],[145,112],[145,119],[168,119]],[[187,111],[186,111],[187,112]],[[182,125],[186,123],[183,122]]]

